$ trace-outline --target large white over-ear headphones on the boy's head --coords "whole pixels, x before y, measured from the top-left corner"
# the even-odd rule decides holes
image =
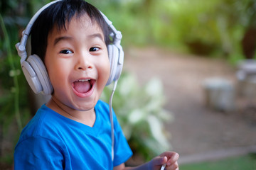
[[[58,1],[52,1],[46,6],[43,6],[29,21],[26,29],[23,30],[21,42],[16,44],[16,49],[18,51],[18,55],[21,57],[21,68],[23,70],[23,74],[28,81],[31,89],[36,93],[42,92],[43,94],[51,94],[53,92],[53,86],[50,84],[50,79],[48,77],[48,73],[45,65],[40,57],[37,55],[31,55],[27,57],[26,53],[26,43],[28,40],[28,35],[31,32],[31,27],[33,23],[36,21],[36,18],[40,15],[40,13],[48,8],[48,6],[55,4]],[[112,22],[100,11],[102,17],[105,19],[105,22],[109,26],[110,36],[112,37],[113,44],[107,46],[108,55],[110,59],[110,78],[107,81],[106,85],[112,83],[112,81],[117,81],[122,72],[122,66],[124,62],[124,52],[122,50],[122,46],[120,45],[122,34],[120,31],[116,30],[112,25]]]

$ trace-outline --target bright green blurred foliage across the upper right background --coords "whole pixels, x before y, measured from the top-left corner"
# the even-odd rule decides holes
[[[241,41],[247,28],[256,25],[254,0],[90,2],[122,31],[124,46],[167,46],[205,57],[225,57],[234,63],[245,58]]]

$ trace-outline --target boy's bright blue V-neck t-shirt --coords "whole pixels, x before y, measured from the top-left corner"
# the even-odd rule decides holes
[[[109,106],[98,101],[89,127],[43,105],[21,132],[14,152],[15,169],[113,169],[132,156],[114,118],[114,161]]]

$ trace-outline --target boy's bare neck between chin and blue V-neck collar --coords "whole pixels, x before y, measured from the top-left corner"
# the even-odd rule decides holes
[[[55,98],[55,96],[50,98],[50,101],[46,103],[46,106],[59,113],[60,115],[65,116],[66,118],[70,118],[71,120],[75,120],[90,127],[93,127],[96,120],[94,109],[90,111],[78,111],[61,103],[58,98]]]

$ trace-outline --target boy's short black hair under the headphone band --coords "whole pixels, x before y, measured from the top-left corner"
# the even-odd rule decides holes
[[[74,16],[80,18],[85,13],[87,13],[91,21],[96,21],[102,29],[105,36],[105,44],[110,44],[107,23],[95,6],[84,0],[63,0],[48,6],[33,23],[31,28],[31,54],[38,55],[44,62],[48,34],[53,30],[53,27],[57,26],[58,30],[66,30],[66,23],[70,23]]]

